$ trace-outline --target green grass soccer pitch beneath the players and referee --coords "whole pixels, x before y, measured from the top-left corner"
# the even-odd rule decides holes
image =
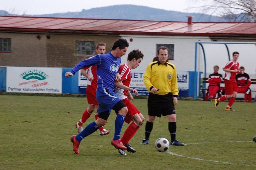
[[[256,169],[255,103],[237,102],[236,112],[225,112],[227,102],[214,109],[212,102],[179,101],[177,139],[185,146],[156,151],[157,138],[170,140],[162,117],[154,122],[149,145],[139,144],[144,123],[130,141],[136,153],[121,156],[110,145],[113,112],[105,126],[111,134],[97,131],[81,142],[80,155],[73,153],[69,137],[88,106],[85,97],[0,95],[0,101],[0,169]],[[147,100],[133,103],[146,118]],[[94,116],[86,124],[92,121]]]

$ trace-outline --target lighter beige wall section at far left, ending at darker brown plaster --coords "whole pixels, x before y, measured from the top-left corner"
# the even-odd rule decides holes
[[[41,34],[0,32],[1,38],[11,38],[11,53],[0,53],[0,66],[46,67],[46,37]]]

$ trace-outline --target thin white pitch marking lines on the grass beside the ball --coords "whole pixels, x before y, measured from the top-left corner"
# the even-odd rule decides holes
[[[228,141],[228,142],[218,142],[218,143],[236,143],[236,142],[253,142],[253,141]],[[185,145],[206,144],[206,143],[215,143],[215,142],[186,143]],[[244,165],[244,164],[235,164],[235,163],[232,163],[232,162],[224,162],[224,161],[218,161],[218,160],[208,160],[208,159],[202,159],[202,158],[187,157],[187,156],[179,155],[179,154],[171,152],[171,151],[166,151],[166,152],[171,154],[171,155],[179,156],[179,157],[183,157],[183,158],[190,158],[190,159],[203,160],[203,161],[216,162],[216,163],[223,163],[223,164],[231,164],[231,165]],[[254,166],[254,167],[256,167],[256,165],[244,165],[244,166]]]

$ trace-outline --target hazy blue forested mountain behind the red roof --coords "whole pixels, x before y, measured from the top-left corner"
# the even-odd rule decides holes
[[[7,12],[8,13],[8,12]],[[1,13],[0,13],[1,14]],[[22,15],[35,17],[63,17],[63,18],[93,18],[93,19],[134,19],[134,20],[155,20],[155,21],[187,21],[187,16],[193,16],[193,21],[219,22],[226,21],[217,16],[167,11],[139,5],[113,5],[107,7],[83,9],[81,12],[52,13],[43,15]]]

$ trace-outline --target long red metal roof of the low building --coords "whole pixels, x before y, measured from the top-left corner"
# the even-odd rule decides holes
[[[137,35],[256,37],[256,23],[143,21],[0,16],[0,30]]]

